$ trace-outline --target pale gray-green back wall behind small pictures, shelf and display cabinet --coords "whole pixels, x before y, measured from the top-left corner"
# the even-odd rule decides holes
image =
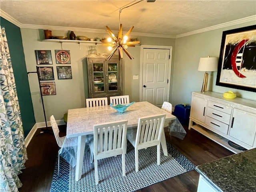
[[[58,80],[56,66],[67,66],[67,64],[56,64],[54,50],[60,50],[61,44],[56,42],[42,42],[44,39],[43,30],[22,28],[22,42],[24,46],[24,54],[26,60],[27,71],[36,70],[36,57],[35,50],[51,50],[53,65],[40,65],[40,66],[53,66],[54,68],[54,82],[56,84],[56,95],[43,96],[46,118],[49,121],[50,115],[54,115],[56,120],[61,120],[63,114],[72,108],[85,107],[85,99],[88,98],[88,76],[86,70],[86,56],[88,50],[94,44],[82,43],[80,44],[81,50],[78,50],[77,43],[63,43],[64,50],[70,50],[72,68],[72,79]],[[85,33],[76,32],[76,36],[87,36],[89,38],[106,38],[107,33]],[[52,30],[53,36],[68,36],[68,31]],[[134,37],[130,37],[134,38]],[[136,37],[140,40],[141,44],[145,45],[162,45],[173,46],[175,39],[171,38],[150,38],[150,37]],[[106,46],[98,44],[98,53],[110,53]],[[128,51],[134,57],[130,60],[126,54],[122,60],[123,72],[123,94],[130,96],[130,101],[140,101],[140,84],[139,80],[133,80],[132,76],[140,73],[140,52],[141,47],[131,47]],[[42,110],[42,101],[40,99],[40,90],[36,74],[31,74],[29,80],[32,101],[34,106],[34,114],[36,122],[44,122],[44,114]],[[50,82],[50,81],[49,81]]]

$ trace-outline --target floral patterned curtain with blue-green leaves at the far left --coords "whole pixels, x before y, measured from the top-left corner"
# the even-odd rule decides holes
[[[0,52],[0,191],[18,191],[18,174],[28,158],[5,28],[0,31]]]

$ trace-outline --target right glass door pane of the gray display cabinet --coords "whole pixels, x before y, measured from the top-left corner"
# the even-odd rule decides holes
[[[108,63],[108,90],[117,91],[118,90],[118,64]]]

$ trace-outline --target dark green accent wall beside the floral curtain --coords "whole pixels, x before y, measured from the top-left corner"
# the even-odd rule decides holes
[[[2,17],[0,17],[0,25],[1,27],[4,27],[6,31],[18,100],[20,104],[23,130],[26,137],[36,123],[36,120],[34,117],[34,109],[28,84],[21,32],[18,26],[12,24]]]

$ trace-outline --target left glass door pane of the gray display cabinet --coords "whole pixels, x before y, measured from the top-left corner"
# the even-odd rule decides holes
[[[103,63],[93,63],[94,92],[104,92],[104,67]]]

